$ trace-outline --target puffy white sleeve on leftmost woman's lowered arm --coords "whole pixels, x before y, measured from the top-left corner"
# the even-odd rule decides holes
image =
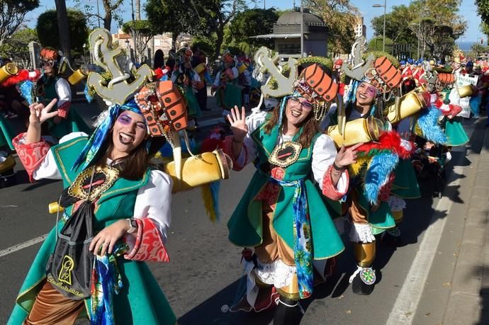
[[[167,239],[167,230],[172,222],[173,181],[163,171],[151,171],[150,180],[137,191],[134,207],[135,218],[151,218],[162,241]]]

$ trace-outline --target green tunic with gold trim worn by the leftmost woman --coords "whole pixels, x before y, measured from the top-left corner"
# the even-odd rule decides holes
[[[71,167],[86,141],[86,137],[78,137],[52,147],[64,188],[68,187],[80,172],[79,169],[72,171]],[[149,169],[140,181],[118,178],[99,198],[95,212],[96,219],[94,219],[95,232],[99,232],[118,219],[133,217],[137,190],[145,186],[149,178]],[[72,207],[68,207],[65,212],[71,215]],[[63,222],[64,220],[60,220],[58,229],[62,229]],[[46,277],[47,258],[54,251],[55,244],[56,234],[53,228],[30,266],[9,319],[9,325],[21,325],[32,309],[35,297]],[[118,295],[113,295],[115,323],[175,324],[176,317],[146,263],[119,258],[118,266],[123,279],[123,289]],[[89,314],[89,306],[90,299],[86,299],[86,314]],[[81,317],[86,317],[86,314]]]

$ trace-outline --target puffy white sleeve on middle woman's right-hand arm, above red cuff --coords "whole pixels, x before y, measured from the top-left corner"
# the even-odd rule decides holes
[[[337,150],[335,147],[335,142],[330,138],[329,135],[320,135],[316,139],[313,147],[313,176],[315,181],[319,184],[321,190],[324,192],[324,182],[325,173],[330,170],[333,162],[335,161]],[[347,171],[342,173],[339,178],[338,185],[336,186],[337,193],[346,193],[348,189],[348,175]]]

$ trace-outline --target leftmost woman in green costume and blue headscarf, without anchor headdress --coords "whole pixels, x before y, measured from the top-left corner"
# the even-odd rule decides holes
[[[61,179],[65,190],[60,197],[63,216],[35,257],[8,324],[74,324],[86,317],[91,324],[175,324],[175,315],[144,262],[169,261],[164,243],[172,179],[150,169],[150,138],[139,107],[134,101],[113,105],[99,118],[92,137],[74,132],[49,147],[40,129],[57,116],[57,110],[50,112],[53,106],[56,100],[47,106],[31,105],[28,132],[13,140],[31,180]],[[91,294],[74,300],[65,296],[61,282],[47,276],[46,266],[59,240],[56,229],[61,230],[85,200],[93,202],[94,209],[95,236],[89,253],[106,265],[116,285],[109,286],[99,270],[88,270],[93,272]]]

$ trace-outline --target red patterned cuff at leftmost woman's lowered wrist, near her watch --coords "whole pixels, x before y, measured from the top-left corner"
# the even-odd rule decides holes
[[[167,249],[154,221],[150,218],[135,220],[137,222],[136,244],[124,258],[133,261],[169,262]]]

